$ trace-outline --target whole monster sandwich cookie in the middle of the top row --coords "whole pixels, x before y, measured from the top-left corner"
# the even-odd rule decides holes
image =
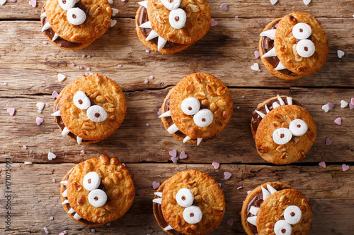
[[[205,0],[148,0],[139,5],[137,35],[154,52],[180,52],[209,30],[210,6]]]

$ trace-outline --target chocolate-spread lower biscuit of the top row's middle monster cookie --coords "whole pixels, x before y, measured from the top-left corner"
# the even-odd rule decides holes
[[[140,42],[146,47],[149,47],[153,52],[160,52],[161,54],[172,54],[176,52],[181,52],[182,50],[188,48],[190,44],[178,44],[173,42],[166,42],[163,48],[160,50],[157,47],[158,38],[155,37],[152,40],[147,41],[147,37],[152,31],[151,28],[140,28],[139,26],[143,23],[149,22],[149,17],[147,15],[147,8],[140,6],[137,10],[137,15],[135,16],[135,30],[137,30],[137,36],[139,37]]]

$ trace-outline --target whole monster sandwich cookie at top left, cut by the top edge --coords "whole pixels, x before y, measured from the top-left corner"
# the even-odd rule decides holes
[[[47,0],[42,7],[42,32],[62,49],[89,46],[110,27],[108,0]]]

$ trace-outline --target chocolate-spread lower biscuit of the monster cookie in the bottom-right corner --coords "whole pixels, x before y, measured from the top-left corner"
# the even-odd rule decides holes
[[[248,235],[254,235],[258,234],[257,227],[256,227],[256,220],[253,218],[253,224],[247,221],[249,217],[253,217],[258,215],[257,212],[254,212],[256,215],[253,215],[251,212],[251,206],[253,207],[260,207],[263,203],[263,191],[262,187],[267,189],[269,186],[273,187],[276,191],[282,191],[287,188],[292,188],[289,184],[287,183],[282,183],[282,182],[268,182],[268,183],[263,183],[260,186],[254,188],[246,197],[244,200],[244,203],[242,204],[242,210],[241,210],[241,223],[242,227],[244,227],[244,230],[246,231],[246,234]],[[269,192],[269,191],[268,191]],[[266,193],[266,192],[265,192]],[[254,208],[253,208],[254,209]],[[250,212],[251,210],[251,212]]]

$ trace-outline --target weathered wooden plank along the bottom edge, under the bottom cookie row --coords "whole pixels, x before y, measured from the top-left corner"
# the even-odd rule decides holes
[[[116,154],[119,158],[122,155]],[[50,234],[59,234],[67,230],[69,235],[92,234],[91,228],[76,224],[69,219],[62,209],[59,198],[59,180],[74,164],[12,164],[11,166],[11,231],[5,234],[44,234],[47,227]],[[0,164],[1,183],[4,183],[4,164]],[[152,214],[154,190],[152,182],[164,180],[185,169],[205,171],[222,183],[227,211],[217,230],[212,234],[245,234],[241,227],[239,212],[246,192],[266,181],[284,181],[302,191],[310,198],[314,212],[312,229],[309,234],[353,234],[350,226],[354,216],[354,171],[341,170],[340,165],[322,169],[314,167],[270,167],[222,164],[215,170],[210,164],[127,164],[133,176],[135,188],[146,191],[143,197],[135,196],[134,203],[127,214],[111,225],[96,228],[96,234],[159,234],[159,229]],[[154,169],[154,170],[152,170]],[[232,172],[229,180],[224,180],[224,171]],[[56,179],[57,183],[52,183]],[[238,186],[243,186],[236,190]],[[4,187],[1,186],[1,195]],[[1,197],[1,205],[6,200]],[[0,208],[5,215],[4,206]],[[336,215],[336,216],[333,216]],[[50,217],[54,220],[50,220]],[[234,218],[234,225],[226,224],[226,219]],[[4,220],[4,219],[3,219]],[[4,226],[0,228],[4,233]]]

